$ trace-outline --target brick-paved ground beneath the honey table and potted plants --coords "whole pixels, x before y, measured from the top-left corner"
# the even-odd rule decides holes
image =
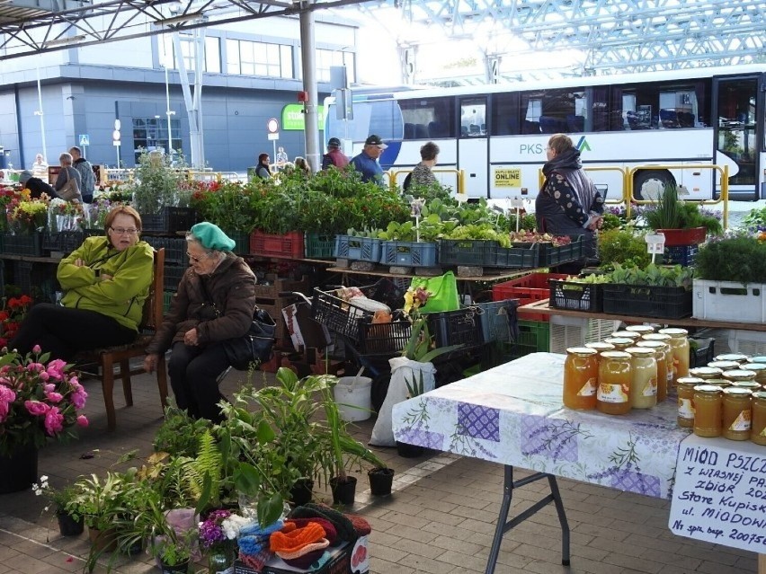
[[[241,375],[229,375],[225,392]],[[86,408],[91,427],[69,445],[51,444],[40,451],[40,473],[54,486],[79,474],[104,472],[126,452],[147,454],[159,426],[161,410],[153,378],[135,379],[132,408],[118,408],[116,432],[107,433],[100,384],[85,382],[91,397]],[[115,400],[121,405],[120,390]],[[369,437],[372,421],[359,424]],[[459,574],[484,572],[502,493],[502,467],[454,455],[432,453],[404,459],[394,449],[377,449],[396,468],[395,493],[372,499],[361,478],[354,510],[367,517],[371,572],[375,574]],[[81,455],[93,453],[93,458]],[[575,481],[559,481],[572,528],[572,566],[560,564],[560,531],[552,508],[545,508],[506,535],[497,572],[539,574],[741,574],[756,571],[756,556],[670,533],[669,505],[618,490]],[[542,485],[518,490],[514,509],[539,498]],[[325,491],[316,497],[329,499]],[[53,574],[83,568],[89,543],[85,534],[61,538],[55,521],[41,514],[43,500],[31,491],[0,496],[0,574]],[[112,571],[156,571],[145,555],[121,558]],[[100,567],[99,572],[106,569]],[[193,570],[206,571],[201,566]]]

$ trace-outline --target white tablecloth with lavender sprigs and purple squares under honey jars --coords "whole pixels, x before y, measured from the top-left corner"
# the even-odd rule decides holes
[[[396,404],[396,440],[669,498],[676,405],[609,416],[561,402],[564,355],[532,353]]]

